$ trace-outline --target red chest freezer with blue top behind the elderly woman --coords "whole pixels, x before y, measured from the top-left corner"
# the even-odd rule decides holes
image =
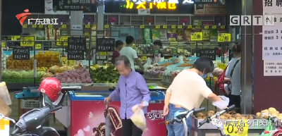
[[[105,123],[104,111],[106,106],[104,98],[108,97],[110,91],[69,91],[66,99],[69,99],[68,106],[61,110],[63,112],[57,114],[56,118],[66,118],[65,126],[70,126],[68,129],[71,135],[76,135],[78,132],[84,132],[85,135],[92,135],[93,130],[101,129]],[[120,114],[120,101],[112,101],[109,105],[109,112],[111,113],[112,132],[114,136],[122,135],[122,123]],[[164,121],[162,111],[164,109],[164,93],[161,91],[152,91],[151,100],[149,101],[147,113],[147,130],[143,135],[152,136],[166,136],[166,125],[158,125]],[[71,113],[68,115],[68,113]],[[68,115],[69,117],[67,117]],[[71,121],[69,121],[71,120]],[[113,121],[115,120],[115,121]],[[64,124],[64,123],[63,123]],[[157,129],[157,131],[156,131]]]

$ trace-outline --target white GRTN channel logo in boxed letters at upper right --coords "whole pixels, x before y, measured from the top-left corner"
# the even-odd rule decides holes
[[[229,21],[230,25],[275,25],[276,18],[274,16],[230,16]]]

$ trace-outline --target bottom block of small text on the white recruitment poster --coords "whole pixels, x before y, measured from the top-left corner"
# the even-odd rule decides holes
[[[282,75],[282,60],[264,61],[264,76],[281,76],[281,75]]]

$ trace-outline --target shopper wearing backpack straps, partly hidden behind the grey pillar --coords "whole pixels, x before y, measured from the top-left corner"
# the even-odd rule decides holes
[[[228,88],[231,94],[228,95],[230,99],[229,105],[235,104],[236,112],[240,113],[241,105],[241,43],[235,44],[232,47],[233,58],[229,61],[226,69],[226,78],[230,78],[231,84]]]

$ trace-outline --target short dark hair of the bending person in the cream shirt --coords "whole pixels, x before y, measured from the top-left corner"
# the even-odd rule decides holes
[[[207,56],[200,56],[194,63],[193,68],[196,68],[203,74],[212,73],[214,70],[214,63],[212,62],[212,58]]]

